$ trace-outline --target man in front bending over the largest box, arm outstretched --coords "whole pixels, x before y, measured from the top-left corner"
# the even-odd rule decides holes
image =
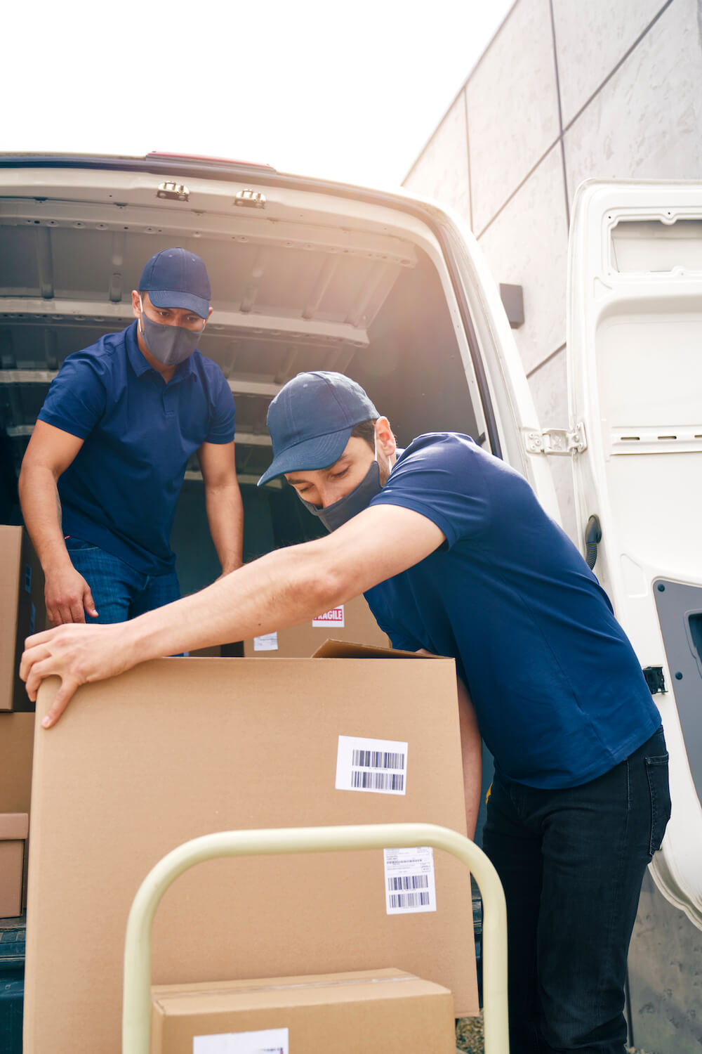
[[[526,481],[466,435],[398,451],[365,392],[326,372],[285,385],[268,428],[260,483],[285,475],[330,533],[124,626],[28,638],[29,698],[62,681],[43,726],[86,680],[363,590],[396,647],[456,660],[469,834],[480,735],[495,757],[483,844],[507,900],[513,1054],[624,1054],[628,942],[670,798],[660,716],[607,597]]]

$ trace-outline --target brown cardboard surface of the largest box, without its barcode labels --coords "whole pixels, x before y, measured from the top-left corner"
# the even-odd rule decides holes
[[[339,735],[407,741],[406,795],[335,790]],[[176,845],[330,823],[465,832],[454,663],[145,664],[38,724],[32,808],[24,1054],[117,1054],[127,912]],[[380,851],[199,864],[161,902],[153,981],[397,965],[476,1013],[468,875],[447,854],[435,866],[437,912],[388,916]]]

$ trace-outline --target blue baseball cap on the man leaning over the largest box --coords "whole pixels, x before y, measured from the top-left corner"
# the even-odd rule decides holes
[[[361,386],[343,373],[298,373],[268,407],[273,462],[258,486],[284,472],[334,465],[355,426],[378,416]]]

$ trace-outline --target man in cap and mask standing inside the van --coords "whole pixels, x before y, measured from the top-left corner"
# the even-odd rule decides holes
[[[197,451],[222,572],[241,565],[234,398],[197,346],[212,314],[204,262],[164,249],[132,293],[136,321],[68,355],[22,462],[24,522],[54,623],[114,623],[180,590],[169,536]]]

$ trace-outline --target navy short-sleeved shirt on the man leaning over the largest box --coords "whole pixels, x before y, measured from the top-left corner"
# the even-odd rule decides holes
[[[456,659],[503,776],[576,786],[656,731],[604,590],[518,472],[467,435],[421,435],[370,504],[414,509],[446,538],[365,597],[394,647]]]

